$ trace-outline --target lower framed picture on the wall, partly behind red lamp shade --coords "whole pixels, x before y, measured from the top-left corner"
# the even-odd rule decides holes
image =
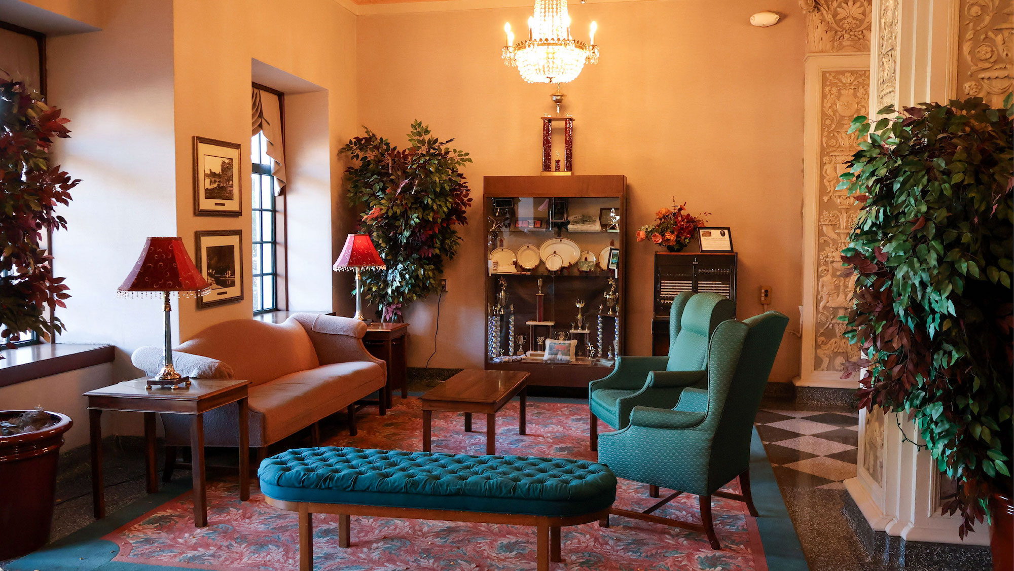
[[[211,282],[211,291],[197,298],[203,309],[243,298],[242,230],[198,230],[197,269]]]

